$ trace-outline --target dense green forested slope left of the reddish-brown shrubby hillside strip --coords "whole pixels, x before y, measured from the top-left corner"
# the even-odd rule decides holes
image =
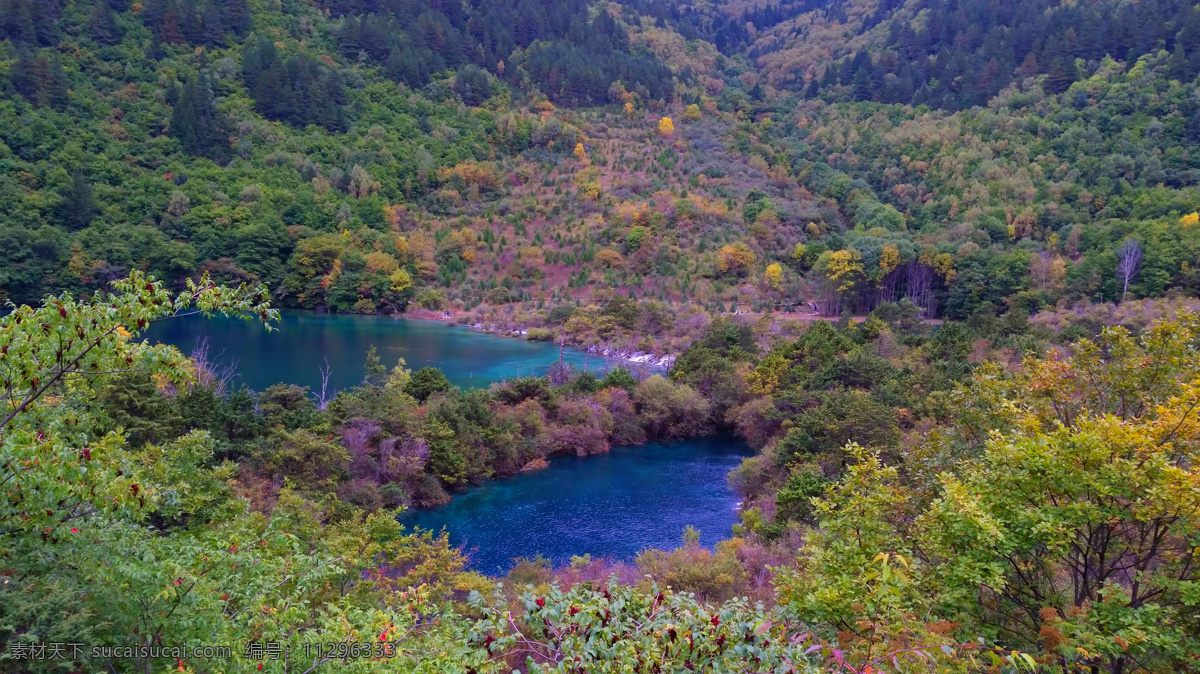
[[[386,281],[396,213],[450,181],[439,171],[574,149],[576,130],[514,106],[523,90],[508,82],[569,103],[604,102],[618,80],[640,107],[673,97],[670,71],[583,5],[14,1],[0,13],[0,287],[17,301],[137,267],[282,291],[302,273],[298,241],[364,228],[386,240]],[[492,197],[499,175],[482,166],[469,197]],[[408,282],[370,296],[391,285]]]

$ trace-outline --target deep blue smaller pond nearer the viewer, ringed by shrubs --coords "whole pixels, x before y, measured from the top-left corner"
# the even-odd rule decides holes
[[[582,554],[631,560],[646,548],[678,547],[689,524],[712,547],[738,520],[726,475],[751,453],[744,443],[712,437],[553,457],[545,470],[488,482],[401,520],[445,528],[470,567],[490,574],[535,554],[559,565]]]

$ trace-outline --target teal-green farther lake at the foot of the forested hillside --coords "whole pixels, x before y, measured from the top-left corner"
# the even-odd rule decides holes
[[[280,383],[317,390],[326,360],[332,369],[330,387],[348,389],[362,381],[362,365],[372,345],[388,369],[402,357],[414,371],[440,368],[463,389],[541,375],[559,357],[558,345],[550,342],[484,335],[433,320],[284,311],[275,325],[278,330],[266,332],[258,323],[191,315],[155,324],[145,337],[174,344],[185,354],[206,337],[210,360],[236,361],[234,385],[256,391]],[[576,368],[583,367],[583,353],[577,349],[566,349],[565,359]],[[592,357],[589,369],[598,366],[602,363]]]

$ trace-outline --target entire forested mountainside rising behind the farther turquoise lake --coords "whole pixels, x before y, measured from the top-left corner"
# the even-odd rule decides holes
[[[208,271],[503,325],[1196,293],[1195,12],[1042,6],[8,1],[0,293]]]

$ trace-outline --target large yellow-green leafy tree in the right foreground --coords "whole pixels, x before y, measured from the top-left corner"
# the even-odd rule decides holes
[[[899,465],[848,447],[785,610],[854,657],[990,633],[1046,670],[1196,669],[1198,337],[1184,313],[985,365]]]

